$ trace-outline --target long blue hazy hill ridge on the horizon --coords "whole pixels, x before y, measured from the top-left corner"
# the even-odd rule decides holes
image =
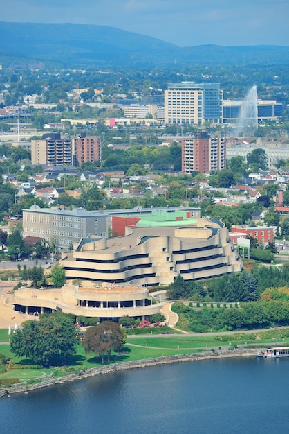
[[[154,67],[173,64],[289,64],[288,46],[180,47],[108,26],[0,22],[2,64]]]

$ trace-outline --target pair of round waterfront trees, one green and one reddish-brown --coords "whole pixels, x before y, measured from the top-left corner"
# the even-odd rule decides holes
[[[119,324],[104,321],[90,327],[82,340],[85,351],[96,354],[104,363],[111,351],[120,351],[126,336]],[[26,321],[10,336],[10,349],[18,357],[41,366],[67,363],[75,355],[80,334],[75,316],[64,313],[40,315],[39,321]]]

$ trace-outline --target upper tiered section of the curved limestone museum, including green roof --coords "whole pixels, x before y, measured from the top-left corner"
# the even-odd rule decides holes
[[[124,236],[83,238],[75,244],[60,261],[68,279],[159,286],[178,274],[199,280],[242,268],[219,221],[192,218],[185,211],[153,211],[137,222],[125,216],[122,221]]]

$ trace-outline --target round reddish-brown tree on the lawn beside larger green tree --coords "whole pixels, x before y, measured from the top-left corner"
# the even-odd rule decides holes
[[[105,354],[107,354],[107,361],[110,361],[111,351],[120,351],[124,342],[125,334],[120,324],[104,321],[86,330],[82,345],[87,353],[98,354],[104,363]]]

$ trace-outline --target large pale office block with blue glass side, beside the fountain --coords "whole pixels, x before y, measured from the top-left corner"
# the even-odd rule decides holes
[[[223,92],[217,83],[171,83],[165,90],[165,123],[222,122]]]

